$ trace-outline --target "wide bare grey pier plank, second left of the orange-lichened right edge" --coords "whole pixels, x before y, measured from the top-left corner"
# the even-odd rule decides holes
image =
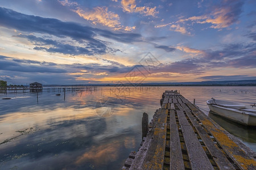
[[[177,116],[183,133],[185,145],[187,147],[189,161],[192,169],[214,169],[205,154],[199,140],[196,137],[192,127],[189,125],[183,111],[177,110]]]

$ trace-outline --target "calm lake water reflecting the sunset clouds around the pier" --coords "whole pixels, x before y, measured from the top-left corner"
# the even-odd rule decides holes
[[[165,90],[180,94],[256,151],[256,129],[209,113],[205,101],[256,102],[256,87],[98,87],[0,96],[0,169],[121,169]],[[242,92],[243,91],[243,92]],[[246,94],[245,94],[246,91]],[[61,94],[56,96],[56,94]],[[10,100],[2,100],[11,97]]]

